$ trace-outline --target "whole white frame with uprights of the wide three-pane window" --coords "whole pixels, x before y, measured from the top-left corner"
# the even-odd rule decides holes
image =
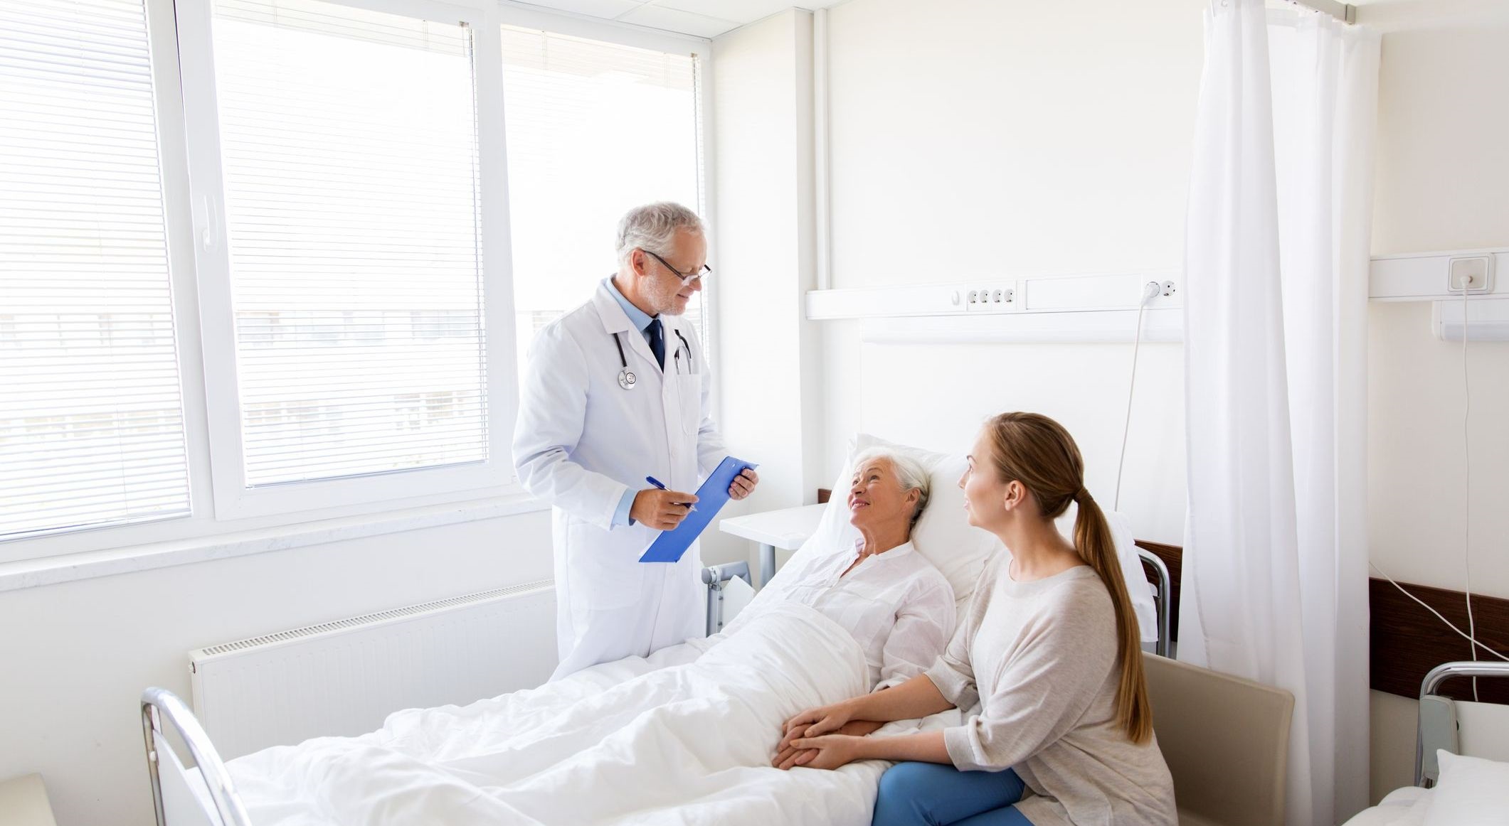
[[[502,99],[501,26],[525,26],[638,48],[694,54],[700,86],[697,164],[703,203],[699,210],[714,225],[714,184],[709,175],[714,145],[711,39],[546,11],[512,0],[329,2],[432,20],[454,17],[472,26],[481,167],[483,320],[489,329],[489,460],[462,467],[246,488],[240,395],[234,371],[235,341],[234,330],[226,323],[232,318],[229,258],[223,228],[223,173],[216,122],[219,113],[213,106],[210,6],[201,0],[142,0],[152,62],[190,514],[0,540],[0,574],[23,577],[18,586],[27,586],[38,571],[53,571],[48,577],[38,579],[38,583],[119,573],[122,559],[131,561],[130,570],[143,570],[178,564],[184,555],[208,559],[276,550],[287,547],[291,537],[344,531],[343,526],[350,526],[353,520],[367,522],[364,517],[388,517],[388,523],[395,525],[391,531],[404,531],[407,528],[398,526],[403,525],[404,514],[423,520],[427,519],[424,514],[433,514],[436,508],[451,511],[460,505],[475,511],[475,519],[493,519],[499,506],[506,512],[548,508],[524,493],[512,467],[519,375],[513,344],[512,203],[504,143],[507,101]],[[204,106],[205,95],[210,95],[208,107]],[[211,127],[208,137],[205,118]],[[196,170],[192,179],[190,166]],[[208,250],[201,243],[205,231],[211,235]],[[712,252],[715,253],[715,244]],[[219,264],[207,262],[204,253],[217,255]],[[717,267],[711,253],[709,264]],[[712,402],[717,415],[717,347],[711,347],[715,342],[715,295],[714,279],[705,289],[703,336],[709,342],[708,360],[714,368]],[[207,324],[205,320],[213,321]],[[217,366],[211,369],[210,365]],[[252,496],[246,496],[247,493]],[[69,555],[86,556],[50,562]],[[6,571],[15,564],[21,567]],[[69,568],[66,576],[62,568]]]

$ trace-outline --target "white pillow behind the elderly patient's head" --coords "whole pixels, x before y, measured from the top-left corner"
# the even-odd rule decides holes
[[[969,461],[963,455],[896,445],[868,433],[854,436],[850,440],[848,457],[844,460],[839,478],[833,482],[833,499],[822,511],[822,522],[797,553],[831,553],[836,549],[851,547],[859,538],[859,529],[850,525],[844,502],[854,473],[854,457],[871,448],[884,448],[910,457],[928,473],[931,488],[928,506],[911,529],[911,544],[954,586],[954,598],[963,610],[975,592],[975,583],[979,580],[979,571],[985,567],[985,561],[997,550],[1003,550],[994,534],[969,525],[964,517],[964,491],[958,488],[958,478],[964,475]],[[1074,514],[1076,508],[1071,505],[1058,520],[1059,531],[1068,538],[1074,535]],[[1117,556],[1121,559],[1121,576],[1132,595],[1142,642],[1156,642],[1157,607],[1153,603],[1153,586],[1148,585],[1147,576],[1142,573],[1142,562],[1138,561],[1132,538],[1132,520],[1120,512],[1108,512],[1106,522],[1115,538]]]

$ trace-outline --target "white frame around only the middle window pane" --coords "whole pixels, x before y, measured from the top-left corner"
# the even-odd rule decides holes
[[[509,434],[501,427],[512,422],[518,405],[512,342],[499,335],[512,329],[512,265],[509,262],[507,149],[495,134],[501,124],[496,106],[484,104],[502,95],[502,75],[486,71],[498,57],[499,38],[493,33],[495,15],[480,5],[441,3],[436,0],[323,0],[341,6],[394,14],[400,17],[460,23],[472,36],[472,83],[477,95],[477,152],[481,197],[481,292],[484,353],[487,362],[487,458],[477,463],[420,467],[412,470],[312,479],[249,487],[241,433],[241,392],[237,371],[231,258],[226,235],[225,173],[220,155],[219,99],[211,36],[211,5],[178,6],[178,59],[183,71],[184,115],[189,166],[198,170],[190,181],[192,238],[199,274],[199,312],[216,320],[202,329],[205,365],[205,404],[213,457],[214,512],[219,519],[287,514],[377,500],[398,500],[415,488],[426,493],[460,493],[501,488],[510,484],[512,460]],[[490,110],[490,112],[489,112]],[[499,190],[501,187],[501,190]],[[499,191],[502,197],[499,196]],[[501,415],[499,415],[501,413]]]

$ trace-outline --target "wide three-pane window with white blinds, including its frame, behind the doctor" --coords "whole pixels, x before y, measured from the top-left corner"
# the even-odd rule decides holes
[[[0,561],[509,482],[515,344],[610,274],[628,206],[702,199],[679,38],[502,20],[564,21],[0,2]]]

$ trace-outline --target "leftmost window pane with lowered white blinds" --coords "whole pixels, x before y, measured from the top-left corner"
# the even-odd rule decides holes
[[[189,514],[140,0],[0,8],[0,538]]]

